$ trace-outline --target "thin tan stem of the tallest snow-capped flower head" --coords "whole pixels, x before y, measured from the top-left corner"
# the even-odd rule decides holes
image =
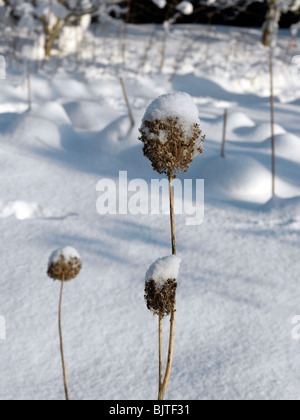
[[[170,218],[171,218],[171,237],[172,237],[172,254],[176,255],[176,235],[175,235],[175,215],[174,215],[174,191],[172,178],[169,178],[169,190],[170,190]],[[170,320],[170,338],[169,338],[169,351],[168,351],[168,362],[166,367],[165,377],[162,383],[161,391],[159,393],[159,400],[164,399],[168,382],[171,375],[172,361],[173,361],[173,349],[174,349],[174,334],[175,334],[175,313],[176,313],[176,302],[174,302],[173,309],[171,312]]]

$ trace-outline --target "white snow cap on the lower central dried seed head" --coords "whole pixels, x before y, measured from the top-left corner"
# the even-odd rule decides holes
[[[176,255],[159,258],[146,273],[146,282],[154,280],[157,288],[161,289],[166,281],[178,278],[182,259]]]

